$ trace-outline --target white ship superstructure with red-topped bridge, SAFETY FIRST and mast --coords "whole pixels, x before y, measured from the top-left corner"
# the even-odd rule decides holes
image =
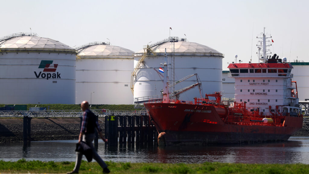
[[[293,66],[277,54],[268,56],[266,37],[259,46],[263,48],[261,63],[231,63],[228,76],[235,79],[235,102],[245,102],[248,111],[265,115],[297,115],[299,111],[296,81],[292,81]],[[269,59],[268,59],[269,58]]]

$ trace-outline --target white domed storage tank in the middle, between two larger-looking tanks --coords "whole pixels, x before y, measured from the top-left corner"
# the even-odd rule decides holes
[[[76,104],[132,104],[133,51],[108,42],[76,48]]]

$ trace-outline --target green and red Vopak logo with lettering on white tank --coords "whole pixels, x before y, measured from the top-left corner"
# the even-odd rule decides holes
[[[36,75],[36,78],[40,78],[41,76],[42,78],[46,78],[47,80],[50,78],[61,79],[60,73],[58,72],[57,74],[56,73],[44,73],[44,72],[56,72],[58,64],[53,64],[53,66],[51,66],[51,64],[53,64],[53,60],[41,60],[39,68],[44,68],[44,70],[43,70],[43,73],[40,71],[39,74],[34,72],[34,74]]]

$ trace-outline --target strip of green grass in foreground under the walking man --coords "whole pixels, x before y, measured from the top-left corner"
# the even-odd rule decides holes
[[[309,174],[307,164],[243,164],[243,163],[116,163],[106,162],[111,173],[254,173],[254,174]],[[0,173],[66,173],[72,171],[75,162],[42,162],[20,159],[16,162],[0,160]],[[82,161],[79,173],[102,173],[98,163]]]

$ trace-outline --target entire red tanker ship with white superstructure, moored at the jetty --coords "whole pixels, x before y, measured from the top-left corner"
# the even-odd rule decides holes
[[[286,58],[274,54],[267,59],[264,53],[261,63],[228,66],[229,76],[235,78],[235,102],[231,103],[222,101],[221,92],[194,102],[171,99],[165,74],[163,98],[144,104],[159,132],[159,145],[286,141],[301,129],[303,115],[290,73],[293,67]]]

